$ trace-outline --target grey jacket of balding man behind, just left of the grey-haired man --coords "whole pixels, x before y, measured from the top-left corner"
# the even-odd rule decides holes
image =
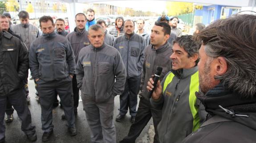
[[[77,63],[78,54],[79,54],[80,50],[83,47],[88,46],[90,44],[90,41],[89,41],[87,35],[88,35],[88,32],[85,29],[83,31],[79,32],[77,30],[77,27],[75,27],[74,31],[69,33],[66,36],[72,46],[76,63]]]

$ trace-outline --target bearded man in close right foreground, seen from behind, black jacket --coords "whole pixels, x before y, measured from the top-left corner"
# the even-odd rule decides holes
[[[204,28],[197,40],[199,84],[196,97],[207,121],[183,143],[255,143],[256,15],[237,14]]]

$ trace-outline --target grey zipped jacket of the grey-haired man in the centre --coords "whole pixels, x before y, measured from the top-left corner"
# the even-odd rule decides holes
[[[76,66],[77,87],[82,98],[96,103],[107,102],[124,91],[126,70],[122,57],[114,47],[84,47]]]

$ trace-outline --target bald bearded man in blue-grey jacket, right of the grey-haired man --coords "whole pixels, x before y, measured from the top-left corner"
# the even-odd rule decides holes
[[[127,73],[125,90],[120,95],[120,109],[116,121],[120,122],[129,108],[130,121],[134,123],[146,42],[141,35],[134,33],[134,22],[132,20],[128,19],[124,22],[124,31],[125,35],[118,37],[114,42],[114,47],[118,49],[122,56]]]

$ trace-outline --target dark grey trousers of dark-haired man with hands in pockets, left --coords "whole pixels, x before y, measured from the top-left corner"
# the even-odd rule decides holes
[[[56,92],[61,99],[61,104],[68,121],[68,127],[75,127],[75,115],[73,110],[72,78],[70,76],[59,81],[37,81],[37,90],[41,105],[42,130],[53,130],[53,102]]]

